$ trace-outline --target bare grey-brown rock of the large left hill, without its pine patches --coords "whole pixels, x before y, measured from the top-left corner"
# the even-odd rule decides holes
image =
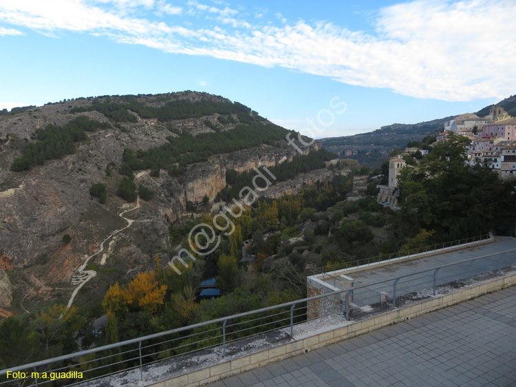
[[[201,97],[198,93],[180,96]],[[224,100],[216,96],[210,98]],[[159,105],[155,101],[149,103]],[[116,196],[116,187],[122,178],[118,166],[124,149],[146,150],[166,143],[166,137],[173,136],[169,126],[155,119],[138,117],[136,123],[89,133],[88,140],[77,146],[75,154],[47,160],[30,171],[10,171],[12,160],[21,155],[25,143],[34,140],[37,129],[48,124],[65,125],[79,115],[100,122],[109,121],[99,112],[69,113],[71,107],[87,104],[87,100],[68,101],[0,117],[0,307],[8,306],[12,300],[8,280],[11,269],[19,269],[14,291],[20,293],[20,298],[30,300],[30,297],[41,295],[41,289],[70,293],[73,289],[70,280],[78,266],[98,251],[100,242],[127,225],[119,213],[134,207],[134,203],[128,204]],[[215,115],[178,120],[173,126],[192,134],[213,132],[206,126],[206,120],[216,118]],[[224,130],[234,126],[234,123],[228,124]],[[303,150],[308,152],[320,147],[319,143],[313,143]],[[284,141],[277,147],[262,145],[211,156],[206,163],[190,165],[181,178],[171,178],[163,170],[160,178],[152,178],[149,171],[139,171],[136,184],[142,183],[155,191],[154,198],[149,202],[141,200],[138,209],[127,213],[127,218],[134,220],[131,227],[111,240],[109,251],[105,246],[105,252],[90,262],[98,266],[117,262],[118,273],[125,275],[151,268],[154,255],[167,258],[173,251],[169,222],[186,211],[186,201],[201,202],[205,195],[213,200],[226,186],[228,169],[249,171],[260,165],[270,167],[297,155],[297,151]],[[111,168],[111,177],[105,172],[109,164],[116,166]],[[313,171],[310,176],[300,176],[293,182],[271,187],[267,194],[292,193],[303,182],[310,184],[331,178],[332,174],[328,172]],[[100,204],[89,194],[89,188],[96,182],[103,182],[107,187],[105,204]],[[68,244],[62,241],[65,233],[72,236]],[[34,290],[36,287],[38,291]]]

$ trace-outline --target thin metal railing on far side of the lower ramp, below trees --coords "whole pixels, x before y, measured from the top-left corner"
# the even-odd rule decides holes
[[[432,252],[436,252],[436,251],[441,251],[443,249],[451,249],[452,247],[458,247],[461,244],[466,245],[466,244],[469,244],[472,242],[481,242],[482,240],[491,240],[491,239],[493,239],[493,235],[491,233],[488,233],[488,234],[484,234],[481,236],[453,240],[451,242],[431,244],[429,246],[419,247],[418,249],[402,250],[402,251],[397,251],[396,253],[380,254],[380,255],[376,255],[375,257],[363,258],[361,260],[354,260],[354,261],[350,261],[350,262],[340,262],[340,263],[336,263],[336,264],[333,264],[330,266],[316,267],[315,269],[312,270],[312,275],[324,274],[324,273],[328,273],[330,271],[350,269],[350,268],[356,267],[356,266],[365,266],[365,265],[376,263],[376,262],[389,262],[391,260],[395,260],[397,258],[402,258],[402,257],[408,257],[410,255],[432,253]]]

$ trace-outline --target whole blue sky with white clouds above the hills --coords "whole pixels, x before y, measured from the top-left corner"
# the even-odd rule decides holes
[[[346,136],[514,94],[516,3],[1,0],[0,52],[0,109],[197,90]]]

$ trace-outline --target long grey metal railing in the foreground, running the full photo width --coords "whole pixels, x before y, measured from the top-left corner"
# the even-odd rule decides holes
[[[94,380],[122,371],[133,370],[134,381],[151,377],[151,365],[164,360],[175,359],[167,363],[170,373],[184,373],[182,367],[187,359],[200,357],[216,364],[221,359],[241,354],[250,345],[250,337],[260,335],[261,342],[274,344],[286,342],[294,336],[294,328],[301,323],[316,318],[341,313],[346,320],[360,317],[363,308],[353,304],[354,292],[372,291],[387,293],[385,300],[377,302],[373,297],[370,302],[381,304],[381,310],[393,308],[420,297],[431,297],[444,293],[450,287],[471,284],[475,280],[485,280],[488,276],[502,275],[504,268],[516,264],[516,249],[483,255],[452,264],[436,266],[398,278],[355,286],[351,289],[333,291],[323,295],[307,297],[301,300],[269,306],[255,311],[239,313],[208,322],[173,329],[153,335],[138,337],[116,344],[91,348],[70,355],[42,360],[23,366],[0,370],[0,386],[13,384],[18,386],[40,386],[52,383],[43,379],[43,372],[50,373],[78,371],[83,379],[69,378],[61,380],[60,385],[80,384],[85,379]],[[450,285],[451,284],[451,285]],[[374,310],[374,308],[372,308]],[[192,355],[194,354],[195,355]],[[201,366],[206,366],[206,361]],[[189,366],[191,370],[191,365]],[[12,379],[14,372],[26,373],[23,379]],[[10,373],[10,374],[8,374]],[[34,374],[32,374],[34,373]],[[10,379],[6,376],[10,375]],[[20,375],[19,375],[20,376]]]

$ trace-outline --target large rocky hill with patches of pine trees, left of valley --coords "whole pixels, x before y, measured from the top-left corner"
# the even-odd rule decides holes
[[[198,92],[80,97],[2,114],[0,315],[67,304],[83,286],[72,304],[98,317],[109,284],[154,269],[156,255],[173,257],[171,224],[224,206],[255,167],[277,174],[277,196],[338,174],[326,166],[336,155],[316,142],[299,144],[300,154],[288,134],[297,137]],[[291,179],[295,187],[281,185]]]

